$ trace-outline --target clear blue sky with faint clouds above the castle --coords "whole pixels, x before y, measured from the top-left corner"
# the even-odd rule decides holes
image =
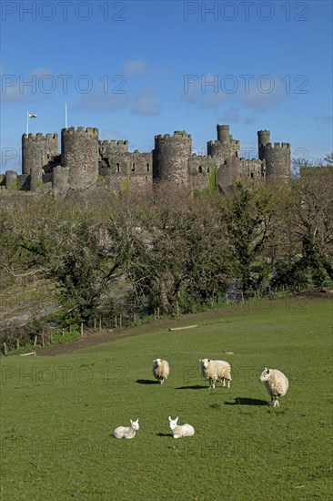
[[[0,172],[21,171],[29,131],[96,127],[150,151],[187,130],[206,154],[229,124],[241,154],[257,130],[292,156],[332,146],[332,2],[33,1],[1,3]],[[59,144],[60,147],[60,144]]]

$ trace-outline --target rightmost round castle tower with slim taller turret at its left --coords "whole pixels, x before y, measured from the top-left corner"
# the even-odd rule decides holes
[[[270,142],[269,130],[259,130],[258,157],[265,160],[266,180],[272,182],[287,182],[291,173],[291,150],[289,143]]]

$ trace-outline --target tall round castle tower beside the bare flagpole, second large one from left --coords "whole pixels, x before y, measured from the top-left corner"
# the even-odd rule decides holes
[[[69,188],[95,186],[98,178],[98,128],[63,128],[61,165],[68,169]]]

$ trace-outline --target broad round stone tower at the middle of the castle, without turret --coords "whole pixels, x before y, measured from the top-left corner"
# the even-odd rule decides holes
[[[189,185],[188,158],[191,155],[192,137],[185,130],[176,130],[173,136],[155,136],[154,179],[169,181],[178,186]]]

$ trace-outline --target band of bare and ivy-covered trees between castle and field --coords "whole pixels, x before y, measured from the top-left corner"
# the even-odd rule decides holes
[[[333,175],[288,185],[237,183],[222,196],[160,185],[120,196],[88,191],[2,200],[0,280],[55,284],[64,324],[193,312],[282,285],[333,280]]]

